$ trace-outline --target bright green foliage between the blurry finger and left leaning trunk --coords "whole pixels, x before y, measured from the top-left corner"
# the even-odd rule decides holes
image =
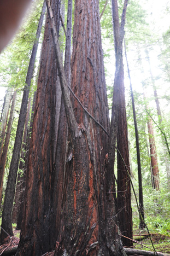
[[[27,16],[13,43],[1,54],[1,86],[12,86],[20,90],[24,88],[41,8],[42,1],[39,1],[34,11]]]

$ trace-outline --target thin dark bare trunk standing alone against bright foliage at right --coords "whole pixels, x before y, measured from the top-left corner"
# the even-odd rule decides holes
[[[124,40],[124,44],[125,44],[125,40]],[[126,56],[128,77],[130,79],[132,108],[133,108],[133,121],[134,121],[134,130],[135,130],[135,136],[136,136],[136,151],[137,151],[137,162],[138,162],[138,184],[139,184],[139,209],[138,209],[139,220],[140,220],[139,228],[143,229],[143,228],[145,228],[145,220],[144,220],[142,168],[141,168],[141,162],[140,162],[139,134],[138,134],[137,119],[136,119],[136,110],[135,110],[135,106],[134,106],[134,96],[133,96],[133,89],[132,89],[132,83],[131,83],[131,75],[130,75],[130,69],[128,67],[128,61],[127,61],[126,45],[125,45],[125,56]]]

